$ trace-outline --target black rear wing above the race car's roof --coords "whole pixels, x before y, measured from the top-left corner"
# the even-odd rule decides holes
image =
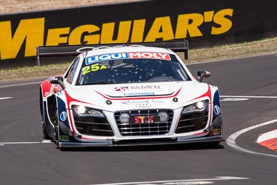
[[[124,44],[83,44],[83,45],[69,45],[69,46],[37,46],[37,66],[40,65],[41,58],[60,58],[78,56],[84,51],[91,51],[93,49],[102,49],[109,47],[124,47],[124,46],[150,46],[170,49],[174,52],[184,52],[184,58],[188,60],[188,41],[187,40],[173,40],[163,42],[136,42]]]

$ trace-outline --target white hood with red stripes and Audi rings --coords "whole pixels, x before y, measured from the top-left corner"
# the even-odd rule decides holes
[[[115,112],[129,109],[177,109],[197,98],[211,96],[211,93],[209,85],[188,81],[75,86],[66,89],[66,96],[70,104],[87,104],[96,109]]]

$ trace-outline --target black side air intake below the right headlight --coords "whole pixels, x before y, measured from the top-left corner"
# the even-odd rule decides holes
[[[202,130],[208,123],[208,111],[181,115],[175,133],[181,134]]]

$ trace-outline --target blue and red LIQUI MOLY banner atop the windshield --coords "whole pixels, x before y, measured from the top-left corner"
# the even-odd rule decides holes
[[[85,58],[84,60],[86,61],[86,65],[89,65],[96,62],[126,59],[126,58],[151,58],[151,59],[170,60],[170,55],[168,53],[112,53],[112,54],[105,54],[105,55],[96,55],[89,58]]]

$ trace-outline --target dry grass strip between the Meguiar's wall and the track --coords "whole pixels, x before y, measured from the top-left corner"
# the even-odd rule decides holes
[[[255,42],[244,42],[240,44],[189,50],[189,61],[186,63],[224,60],[229,58],[240,58],[269,53],[277,53],[277,37],[262,39]],[[64,71],[66,71],[66,69],[69,67],[69,64],[70,63],[50,64],[42,67],[35,66],[0,69],[0,82],[10,80],[48,78],[49,76],[64,73]]]

